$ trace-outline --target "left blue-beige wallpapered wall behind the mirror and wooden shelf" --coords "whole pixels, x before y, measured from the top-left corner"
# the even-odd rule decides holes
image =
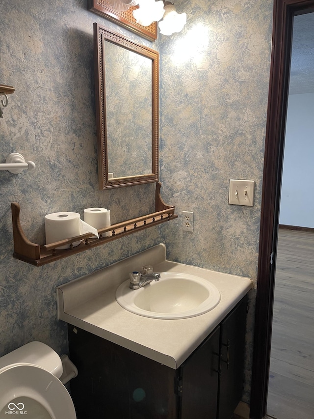
[[[34,243],[45,243],[44,218],[58,211],[110,209],[112,223],[155,211],[155,184],[99,191],[93,22],[150,45],[87,10],[87,1],[2,0],[0,83],[16,89],[3,110],[0,161],[13,151],[34,171],[0,172],[0,355],[31,340],[67,351],[55,287],[160,242],[158,227],[40,268],[12,257],[10,204]]]

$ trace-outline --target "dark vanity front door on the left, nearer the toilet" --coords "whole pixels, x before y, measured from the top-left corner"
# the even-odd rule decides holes
[[[181,419],[216,419],[219,327],[181,367]]]

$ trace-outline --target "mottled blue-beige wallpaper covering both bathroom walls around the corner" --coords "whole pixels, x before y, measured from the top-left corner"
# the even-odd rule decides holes
[[[0,83],[9,96],[1,162],[12,151],[33,172],[0,173],[0,355],[41,340],[67,350],[55,287],[163,242],[168,259],[248,276],[256,288],[263,148],[271,48],[271,0],[176,0],[183,31],[151,43],[89,12],[87,1],[0,3]],[[93,22],[160,53],[160,180],[176,212],[194,211],[194,233],[178,220],[105,247],[34,268],[12,258],[10,202],[27,237],[44,242],[44,216],[91,206],[119,222],[154,208],[154,185],[99,191]],[[254,207],[228,205],[230,178],[256,181]],[[255,291],[248,321],[249,401]]]

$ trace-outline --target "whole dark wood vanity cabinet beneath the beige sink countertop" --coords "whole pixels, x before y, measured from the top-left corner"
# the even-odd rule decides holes
[[[230,419],[241,399],[246,298],[174,370],[68,325],[78,419]]]

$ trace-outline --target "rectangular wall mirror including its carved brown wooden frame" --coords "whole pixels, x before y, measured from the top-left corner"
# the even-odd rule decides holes
[[[94,24],[100,189],[158,181],[158,53]]]

